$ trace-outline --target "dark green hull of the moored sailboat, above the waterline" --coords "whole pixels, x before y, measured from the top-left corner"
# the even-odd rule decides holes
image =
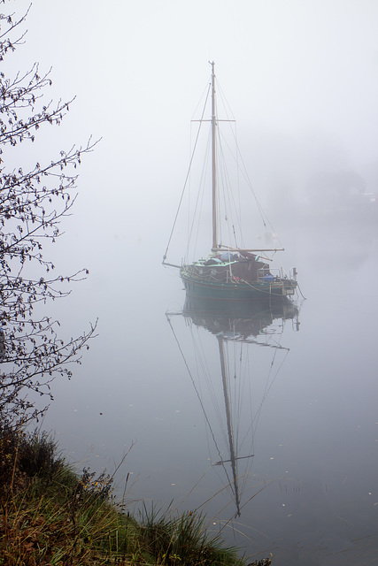
[[[190,277],[184,270],[181,270],[180,276],[187,295],[195,299],[215,301],[250,301],[290,296],[297,287],[296,281],[292,279],[260,280],[251,283],[220,282]]]

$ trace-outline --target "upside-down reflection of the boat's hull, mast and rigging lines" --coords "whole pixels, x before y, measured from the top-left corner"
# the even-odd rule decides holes
[[[209,364],[209,360],[205,359],[208,355],[207,352],[202,346],[199,347],[198,344],[193,343],[193,351],[197,358],[195,364],[197,379],[194,371],[190,369],[188,356],[184,354],[174,331],[172,324],[174,315],[184,317],[186,326],[191,331],[193,329],[197,331],[197,337],[200,338],[201,333],[211,333],[218,344],[219,363],[208,372],[207,368],[212,368],[212,364]],[[216,448],[218,459],[212,462],[212,466],[221,466],[224,470],[228,479],[228,486],[233,492],[236,508],[235,516],[240,516],[243,507],[241,495],[243,495],[245,489],[245,486],[241,488],[240,484],[241,482],[245,483],[246,478],[251,476],[251,462],[254,456],[253,437],[259,412],[273,383],[271,369],[277,352],[281,350],[285,357],[289,353],[289,348],[283,347],[280,343],[284,325],[290,321],[293,330],[299,330],[297,306],[289,300],[280,300],[274,303],[237,302],[235,305],[230,305],[229,302],[198,301],[187,296],[183,310],[180,313],[166,313],[166,317],[195,387],[204,412],[206,426]],[[194,338],[193,333],[192,337]],[[253,348],[258,347],[269,348],[272,352],[273,361],[270,362],[268,370],[271,382],[266,384],[266,393],[260,402],[257,414],[253,416],[251,408],[245,410],[245,401],[248,397],[247,389],[248,392],[251,392],[251,386],[253,386],[249,349],[253,350]],[[204,356],[204,359],[198,363],[200,353],[201,356]],[[281,366],[282,363],[279,365],[279,369]],[[200,368],[199,371],[198,368]],[[219,373],[215,375],[219,371],[220,375]],[[278,371],[275,373],[274,379],[276,379]],[[221,392],[222,402],[216,399],[215,394],[210,395],[213,404],[216,405],[213,412],[218,415],[218,427],[212,424],[208,415],[209,408],[205,405],[204,395],[201,394],[204,386],[204,384],[201,384],[201,380],[206,380],[207,389],[212,389],[212,385],[217,380],[221,382],[219,394]],[[220,417],[221,406],[223,407],[223,417]],[[242,409],[244,409],[245,414],[242,414]],[[244,433],[240,430],[241,423],[243,423]],[[219,437],[222,436],[221,433],[223,433],[226,446],[223,450],[219,440]],[[243,474],[238,470],[241,461],[245,464]]]

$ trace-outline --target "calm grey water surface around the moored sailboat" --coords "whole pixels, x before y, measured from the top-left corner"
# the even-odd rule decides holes
[[[250,317],[183,317],[163,242],[135,243],[119,272],[116,249],[66,302],[98,314],[100,335],[43,426],[79,469],[112,471],[133,445],[117,474],[131,509],[200,508],[251,561],[374,564],[375,228],[287,228],[285,243],[306,300]],[[145,271],[126,284],[130,264]]]

